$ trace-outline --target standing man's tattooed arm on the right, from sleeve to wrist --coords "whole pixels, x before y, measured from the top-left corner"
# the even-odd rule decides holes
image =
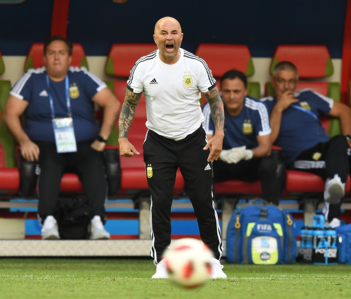
[[[223,133],[224,127],[224,110],[223,102],[218,93],[217,87],[211,89],[207,93],[204,93],[204,96],[211,108],[212,119],[215,124],[215,131]]]

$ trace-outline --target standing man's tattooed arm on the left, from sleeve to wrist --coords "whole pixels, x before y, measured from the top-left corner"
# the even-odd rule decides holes
[[[118,119],[119,138],[128,136],[128,131],[132,125],[140,96],[141,93],[133,93],[127,89]]]

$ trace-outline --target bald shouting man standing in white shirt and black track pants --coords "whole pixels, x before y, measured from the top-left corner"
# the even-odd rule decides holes
[[[164,250],[171,243],[171,206],[177,168],[193,204],[202,241],[214,252],[211,278],[226,278],[219,260],[223,251],[213,202],[212,161],[222,150],[223,104],[215,79],[205,61],[180,48],[183,33],[171,17],[159,19],[154,40],[158,50],[137,60],[127,81],[119,116],[120,154],[139,154],[128,140],[140,95],[144,92],[149,129],[143,145],[151,192],[150,254],[156,264],[155,279],[168,278]],[[207,142],[199,104],[200,92],[211,105],[216,133]]]

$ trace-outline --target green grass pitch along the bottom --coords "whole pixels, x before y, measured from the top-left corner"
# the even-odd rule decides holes
[[[151,279],[151,259],[0,259],[0,298],[351,298],[348,265],[223,264],[228,279],[182,289]]]

